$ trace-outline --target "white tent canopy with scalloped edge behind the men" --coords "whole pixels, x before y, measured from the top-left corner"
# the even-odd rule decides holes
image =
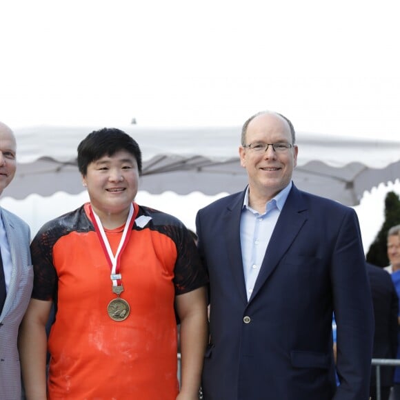
[[[102,127],[37,126],[15,130],[17,174],[6,196],[82,192],[76,157],[79,142]],[[140,189],[152,194],[237,192],[246,186],[239,165],[241,128],[148,128],[119,126],[143,154]],[[298,165],[294,183],[303,190],[359,203],[363,192],[400,176],[400,141],[326,137],[297,132]]]

